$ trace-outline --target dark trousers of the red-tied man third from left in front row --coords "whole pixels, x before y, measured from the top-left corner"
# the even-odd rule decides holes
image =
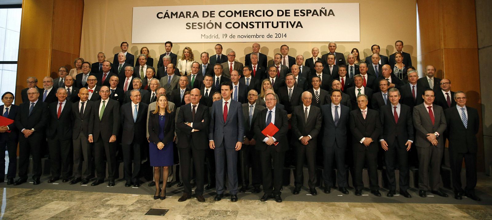
[[[48,138],[51,178],[68,179],[72,175],[72,140]]]

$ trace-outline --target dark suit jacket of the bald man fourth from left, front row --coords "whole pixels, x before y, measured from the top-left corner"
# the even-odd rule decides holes
[[[94,127],[94,102],[91,100],[87,100],[86,103],[84,103],[84,114],[82,117],[80,116],[80,109],[79,109],[79,102],[73,103],[72,104],[72,118],[73,118],[73,133],[72,133],[72,138],[77,139],[79,138],[79,135],[81,132],[84,132],[87,138],[89,133],[89,130],[92,131],[92,128]],[[99,118],[97,118],[99,120]],[[82,130],[81,130],[82,129]]]

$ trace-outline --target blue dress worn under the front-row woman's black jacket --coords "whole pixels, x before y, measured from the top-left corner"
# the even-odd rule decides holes
[[[156,115],[159,118],[159,139],[164,138],[164,127],[166,117],[164,115]],[[173,141],[164,143],[164,148],[159,150],[153,142],[149,143],[149,154],[151,166],[172,166],[174,165]]]

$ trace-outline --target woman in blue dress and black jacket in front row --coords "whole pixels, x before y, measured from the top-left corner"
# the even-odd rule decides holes
[[[169,166],[174,165],[173,138],[175,112],[169,110],[167,97],[157,97],[156,108],[149,113],[149,154],[151,166],[154,166],[154,199],[166,198],[166,181],[160,188],[159,180],[167,180]],[[161,190],[162,189],[162,190]]]

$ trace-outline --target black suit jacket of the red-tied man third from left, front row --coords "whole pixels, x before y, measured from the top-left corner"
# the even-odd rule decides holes
[[[59,140],[72,139],[72,103],[68,100],[65,102],[60,118],[58,118],[57,112],[59,108],[59,102],[51,103],[48,106],[49,121],[46,128],[46,138]]]

